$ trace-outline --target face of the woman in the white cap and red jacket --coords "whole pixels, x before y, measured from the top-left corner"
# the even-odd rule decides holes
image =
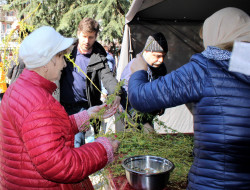
[[[53,82],[60,80],[64,67],[66,67],[64,55],[55,55],[48,63],[48,72],[46,78]]]

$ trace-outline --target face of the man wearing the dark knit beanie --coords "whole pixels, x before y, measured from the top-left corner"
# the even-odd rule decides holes
[[[144,59],[152,67],[159,67],[163,63],[165,56],[166,56],[165,52],[145,51],[143,53]]]

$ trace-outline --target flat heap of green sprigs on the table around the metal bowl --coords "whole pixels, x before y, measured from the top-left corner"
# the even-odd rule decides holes
[[[102,136],[104,134],[101,134]],[[160,135],[156,133],[145,134],[142,130],[131,130],[118,132],[116,134],[106,134],[108,137],[114,135],[121,142],[116,160],[106,166],[103,175],[111,171],[114,177],[125,175],[122,167],[122,160],[136,155],[160,156],[172,161],[175,169],[170,174],[169,185],[171,189],[183,189],[187,183],[187,174],[193,162],[193,136],[175,134]]]

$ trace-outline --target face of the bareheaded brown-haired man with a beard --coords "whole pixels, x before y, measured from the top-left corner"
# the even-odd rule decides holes
[[[89,51],[96,41],[96,32],[78,32],[79,46],[84,51]]]

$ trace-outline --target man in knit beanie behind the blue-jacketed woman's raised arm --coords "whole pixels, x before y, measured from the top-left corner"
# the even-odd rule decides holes
[[[147,62],[148,66],[148,79],[149,81],[153,81],[160,76],[164,76],[167,74],[166,64],[163,62],[164,58],[168,52],[168,43],[165,36],[161,33],[154,33],[150,35],[145,43],[144,49],[142,51],[145,61]],[[127,91],[128,91],[128,81],[132,74],[131,72],[131,65],[133,64],[134,59],[132,59],[128,65],[124,68],[121,81],[124,80],[123,89],[126,93],[123,93],[121,104],[124,109],[127,108],[129,110],[129,114],[131,117],[136,113],[133,111],[129,101],[127,101]],[[153,127],[153,119],[154,116],[162,114],[164,109],[155,111],[151,113],[151,116],[148,117],[143,116],[140,118],[142,120],[142,124],[144,125],[144,131],[152,132],[154,130]]]

